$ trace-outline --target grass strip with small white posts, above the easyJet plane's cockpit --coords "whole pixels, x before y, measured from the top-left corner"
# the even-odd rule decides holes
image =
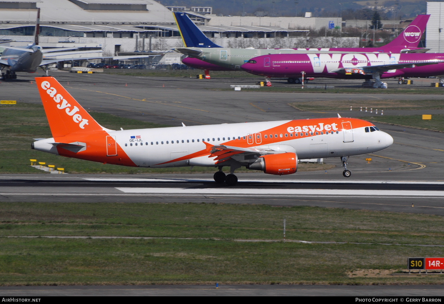
[[[313,101],[297,101],[290,104],[293,108],[300,111],[338,111],[350,110],[365,111],[365,108],[373,108],[381,110],[425,110],[425,109],[442,109],[444,108],[444,100],[392,100],[392,99],[372,99],[372,100],[313,100]]]

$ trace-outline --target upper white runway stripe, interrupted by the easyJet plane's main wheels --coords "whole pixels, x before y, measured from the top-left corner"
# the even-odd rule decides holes
[[[212,178],[82,178],[89,181],[137,181],[137,182],[184,182],[184,181],[198,181],[198,182],[214,182]],[[441,180],[270,180],[270,179],[256,179],[248,180],[241,179],[239,182],[257,182],[257,183],[314,183],[314,184],[436,184],[444,185]]]

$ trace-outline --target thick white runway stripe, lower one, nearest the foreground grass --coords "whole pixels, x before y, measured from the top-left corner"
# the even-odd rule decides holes
[[[245,189],[245,188],[116,188],[125,193],[165,194],[237,194],[237,195],[297,195],[297,196],[444,196],[444,191],[420,190],[342,190],[342,189]]]

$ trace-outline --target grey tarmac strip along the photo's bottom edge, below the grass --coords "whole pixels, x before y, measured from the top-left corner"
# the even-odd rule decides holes
[[[362,296],[442,297],[440,285],[3,286],[2,296]],[[354,299],[353,299],[354,300]],[[371,299],[370,299],[371,300]],[[400,301],[400,299],[397,299]]]

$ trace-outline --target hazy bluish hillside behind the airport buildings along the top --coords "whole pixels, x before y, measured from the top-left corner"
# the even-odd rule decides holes
[[[158,0],[166,6],[211,6],[214,14],[240,16],[242,12],[252,16],[262,11],[274,16],[304,16],[313,12],[313,17],[339,17],[362,19],[363,9],[374,9],[375,1],[350,0]],[[297,2],[297,4],[295,4]],[[443,2],[443,1],[436,1]],[[342,5],[339,5],[342,3]],[[341,9],[340,9],[341,7]],[[425,0],[378,0],[377,9],[382,19],[408,19],[426,12]]]

